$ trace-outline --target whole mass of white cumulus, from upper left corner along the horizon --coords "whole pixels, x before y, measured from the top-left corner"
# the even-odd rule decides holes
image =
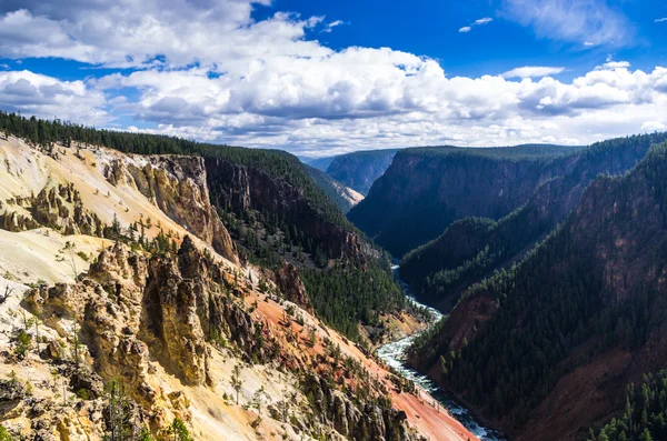
[[[336,21],[286,12],[253,20],[257,3],[6,0],[0,56],[127,69],[69,82],[0,71],[0,108],[302,154],[587,143],[667,124],[664,68],[631,71],[609,58],[568,81],[552,78],[558,67],[452,77],[434,59],[390,48],[332,50],[315,36]]]

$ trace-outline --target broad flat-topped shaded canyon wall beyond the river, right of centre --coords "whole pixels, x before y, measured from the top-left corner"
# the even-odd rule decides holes
[[[394,255],[441,234],[457,219],[500,219],[552,177],[567,172],[581,148],[518,146],[401,150],[348,213]]]

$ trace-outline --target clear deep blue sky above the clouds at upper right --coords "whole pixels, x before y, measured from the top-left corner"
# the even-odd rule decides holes
[[[328,46],[390,47],[440,61],[454,76],[479,77],[502,73],[517,66],[565,66],[571,73],[587,72],[609,53],[630,60],[633,66],[653,69],[667,58],[667,1],[608,1],[611,10],[627,18],[633,28],[628,44],[600,44],[586,48],[571,41],[537,38],[535,29],[510,20],[499,1],[489,0],[279,0],[259,8],[259,19],[278,10],[300,11],[306,16],[326,16],[345,24],[336,32],[317,36]],[[480,18],[491,18],[488,26],[458,30]],[[566,78],[567,74],[563,78]]]

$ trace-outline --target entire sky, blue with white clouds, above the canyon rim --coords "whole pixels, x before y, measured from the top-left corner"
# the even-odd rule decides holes
[[[667,0],[0,3],[0,109],[310,156],[666,130],[665,67]]]

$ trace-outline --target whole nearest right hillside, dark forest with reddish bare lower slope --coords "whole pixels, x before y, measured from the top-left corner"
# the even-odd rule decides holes
[[[603,177],[524,261],[467,290],[412,361],[517,440],[574,440],[667,361],[667,143]]]

